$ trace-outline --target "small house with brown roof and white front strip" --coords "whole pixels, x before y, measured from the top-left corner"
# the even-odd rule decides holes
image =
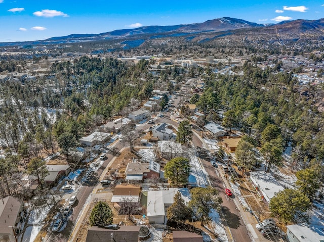
[[[133,184],[118,184],[115,186],[111,203],[138,203],[141,198],[141,186]]]

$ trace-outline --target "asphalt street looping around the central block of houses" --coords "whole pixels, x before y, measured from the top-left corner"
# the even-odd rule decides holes
[[[177,122],[170,119],[170,112],[167,112],[164,113],[164,117],[156,118],[153,124],[145,123],[139,125],[137,129],[144,131],[156,123],[163,123],[163,122],[172,124],[175,127],[178,127],[179,125]],[[216,174],[215,168],[210,163],[210,155],[208,155],[208,153],[206,153],[206,150],[203,149],[203,144],[201,143],[201,140],[197,137],[195,133],[193,135],[192,143],[195,147],[200,148],[199,158],[201,160],[201,165],[203,165],[205,170],[208,172],[213,187],[217,188],[220,191],[220,196],[223,199],[222,212],[224,214],[224,219],[226,221],[225,225],[228,226],[230,233],[232,235],[232,238],[229,238],[229,241],[251,241],[250,237],[248,236],[247,228],[240,217],[239,210],[237,210],[232,199],[228,199],[228,197],[226,196],[224,191],[225,187],[223,185],[223,181],[221,177],[219,177]],[[119,151],[123,147],[124,147],[123,142],[117,141],[117,143],[114,146],[114,149],[115,151]],[[60,242],[67,241],[71,231],[73,230],[75,221],[79,213],[82,211],[86,203],[86,200],[88,199],[90,193],[92,192],[93,188],[98,182],[98,177],[100,177],[105,167],[112,160],[113,154],[107,153],[106,157],[107,158],[104,160],[103,165],[98,169],[98,172],[96,174],[90,174],[88,181],[85,184],[83,184],[78,190],[77,202],[72,206],[73,212],[69,217],[69,221],[67,223],[66,228],[60,233],[51,231],[46,241],[60,241]]]

